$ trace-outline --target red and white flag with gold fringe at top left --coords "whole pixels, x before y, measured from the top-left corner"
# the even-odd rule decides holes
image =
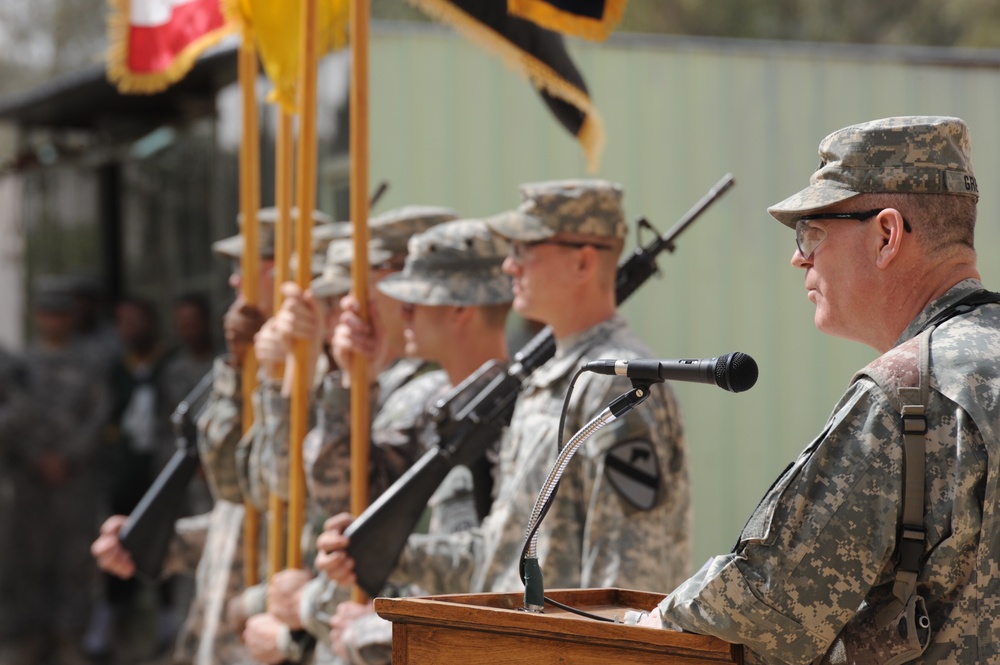
[[[110,0],[108,80],[125,94],[160,92],[234,27],[219,0]]]

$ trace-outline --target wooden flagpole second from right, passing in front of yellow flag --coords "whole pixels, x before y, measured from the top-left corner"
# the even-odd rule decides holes
[[[317,0],[302,0],[299,56],[299,140],[298,140],[298,224],[295,229],[298,263],[295,281],[305,291],[312,280],[312,215],[316,208],[316,71],[317,71]],[[310,360],[309,340],[296,340],[292,383],[290,440],[288,450],[288,556],[287,565],[301,568],[302,528],[305,523],[305,477],[302,442],[309,426]]]

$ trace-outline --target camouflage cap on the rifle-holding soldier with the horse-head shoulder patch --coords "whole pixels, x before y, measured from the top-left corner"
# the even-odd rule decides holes
[[[622,188],[607,180],[552,180],[521,185],[524,202],[487,220],[510,240],[532,242],[559,233],[624,238]]]

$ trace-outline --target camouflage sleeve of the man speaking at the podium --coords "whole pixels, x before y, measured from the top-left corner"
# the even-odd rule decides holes
[[[855,384],[758,506],[736,551],[709,560],[660,604],[664,626],[778,662],[822,654],[871,587],[891,579],[902,508],[892,414],[874,385]]]

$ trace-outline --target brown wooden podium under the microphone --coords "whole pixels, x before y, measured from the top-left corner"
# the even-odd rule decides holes
[[[605,617],[650,610],[663,594],[622,589],[566,589],[546,595]],[[740,663],[743,650],[714,637],[608,623],[546,605],[523,612],[521,593],[377,598],[392,622],[393,665],[649,665]]]

